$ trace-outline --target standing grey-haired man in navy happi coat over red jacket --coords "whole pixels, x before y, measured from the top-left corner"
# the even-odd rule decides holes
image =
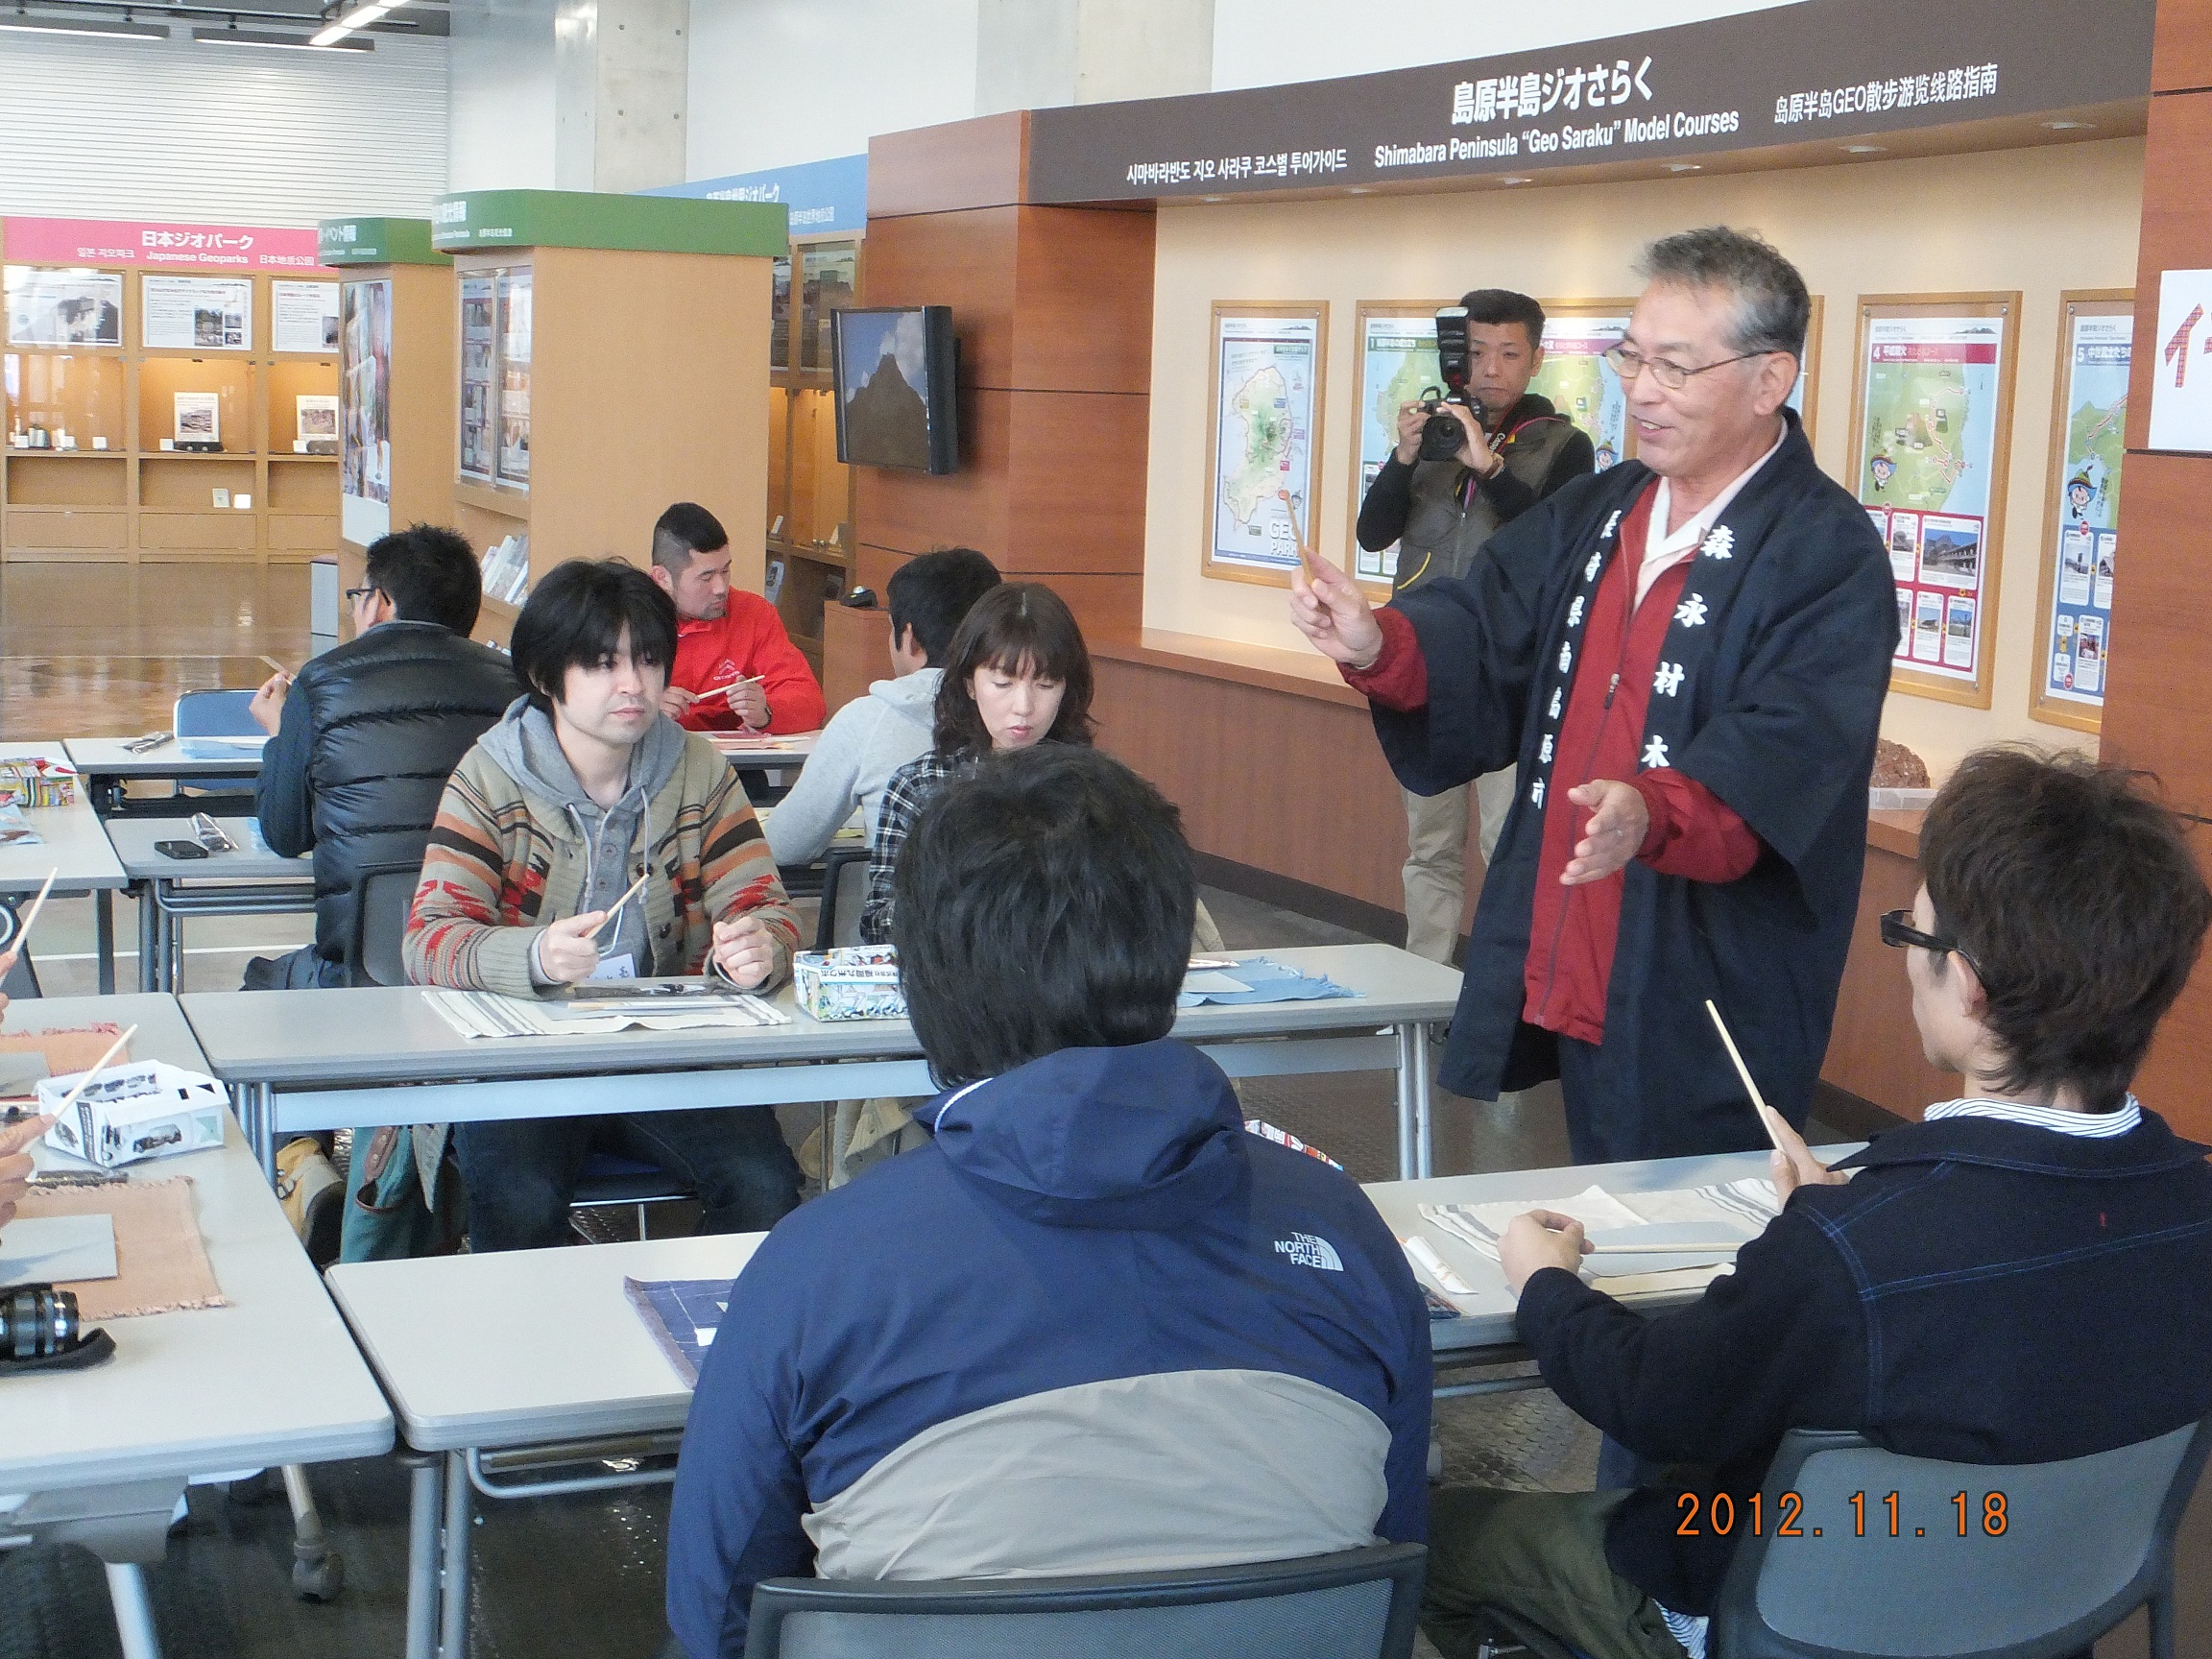
[[[1610,361],[1637,458],[1371,611],[1292,619],[1374,706],[1398,781],[1520,768],[1442,1082],[1559,1077],[1577,1161],[1756,1146],[1703,1002],[1803,1124],[1865,865],[1898,613],[1882,540],[1787,407],[1812,303],[1728,228],[1646,252]]]

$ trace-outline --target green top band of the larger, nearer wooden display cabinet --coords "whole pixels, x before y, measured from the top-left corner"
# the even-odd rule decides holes
[[[591,190],[460,190],[438,197],[431,243],[482,248],[622,248],[661,254],[761,254],[790,248],[781,201],[699,201]]]

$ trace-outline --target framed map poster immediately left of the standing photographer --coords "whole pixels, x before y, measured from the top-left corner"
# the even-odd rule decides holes
[[[1290,582],[1312,544],[1325,305],[1214,307],[1210,575]]]

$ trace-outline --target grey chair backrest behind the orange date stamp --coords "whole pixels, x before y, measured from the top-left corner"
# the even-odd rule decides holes
[[[1759,1533],[1752,1515],[1732,1517],[1741,1542],[1710,1652],[2081,1652],[2170,1593],[2174,1528],[2208,1449],[2212,1418],[2035,1464],[1900,1458],[1856,1433],[1792,1429],[1767,1471]]]

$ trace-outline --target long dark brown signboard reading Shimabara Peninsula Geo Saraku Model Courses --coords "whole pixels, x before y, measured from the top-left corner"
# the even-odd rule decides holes
[[[1040,108],[1031,201],[1666,161],[2150,93],[2154,0],[1818,0],[1380,75]]]

